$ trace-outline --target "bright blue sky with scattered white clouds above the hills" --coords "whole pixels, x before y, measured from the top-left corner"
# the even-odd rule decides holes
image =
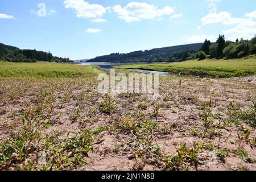
[[[256,1],[0,1],[0,43],[73,60],[215,41],[218,34],[252,38]]]

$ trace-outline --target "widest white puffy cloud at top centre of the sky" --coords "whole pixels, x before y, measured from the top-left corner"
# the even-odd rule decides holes
[[[160,18],[163,15],[174,13],[174,9],[170,6],[158,9],[157,6],[149,5],[146,2],[130,2],[125,7],[115,5],[113,10],[118,14],[118,18],[124,19],[126,22]]]

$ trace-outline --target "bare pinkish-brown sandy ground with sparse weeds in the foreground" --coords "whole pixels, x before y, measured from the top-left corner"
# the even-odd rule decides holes
[[[255,114],[255,108],[251,109],[253,103],[247,101],[256,101],[256,77],[219,80],[164,77],[160,80],[157,101],[148,100],[143,94],[119,94],[111,98],[116,107],[110,114],[102,111],[101,102],[105,98],[97,93],[96,81],[63,79],[55,80],[55,84],[52,82],[18,78],[0,80],[2,142],[18,132],[24,111],[36,112],[33,108],[40,106],[42,110],[36,117],[51,123],[41,131],[43,135],[57,132],[59,139],[65,140],[69,131],[105,127],[100,138],[93,142],[93,150],[84,157],[84,163],[73,169],[173,170],[162,156],[172,158],[180,144],[193,150],[193,142],[200,142],[197,165],[186,158],[183,167],[189,170],[256,170],[255,126],[247,122],[248,118],[236,114],[248,110]],[[207,108],[210,114],[205,116]],[[213,124],[205,127],[204,118],[212,120]],[[131,121],[152,121],[154,126],[134,129],[133,125],[128,125]],[[142,135],[150,139],[144,140]],[[137,142],[139,147],[131,141]],[[160,151],[155,152],[154,146]],[[224,151],[228,152],[224,154]],[[240,155],[241,151],[246,155]]]

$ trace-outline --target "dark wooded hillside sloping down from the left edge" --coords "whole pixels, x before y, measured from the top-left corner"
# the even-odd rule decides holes
[[[30,49],[19,49],[0,43],[0,61],[27,62],[36,61],[71,63],[69,58],[55,57],[51,52],[36,51]]]

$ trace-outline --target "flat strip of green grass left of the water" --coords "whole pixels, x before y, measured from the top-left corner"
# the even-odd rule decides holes
[[[80,77],[100,73],[97,66],[60,63],[10,63],[0,62],[0,77]]]

